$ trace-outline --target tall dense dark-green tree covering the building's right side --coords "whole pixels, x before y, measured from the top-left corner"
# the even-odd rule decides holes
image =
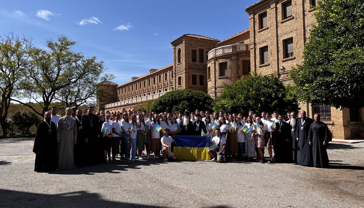
[[[364,1],[323,0],[315,11],[301,65],[290,76],[301,101],[364,106]]]

